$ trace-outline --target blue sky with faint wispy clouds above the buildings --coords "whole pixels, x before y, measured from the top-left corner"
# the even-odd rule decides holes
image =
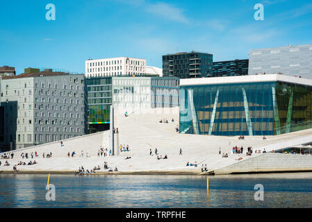
[[[47,21],[48,3],[56,7]],[[264,20],[254,19],[256,3]],[[250,49],[312,44],[312,1],[17,0],[0,1],[0,66],[85,72],[89,58],[145,58],[181,51],[215,62],[246,59]]]

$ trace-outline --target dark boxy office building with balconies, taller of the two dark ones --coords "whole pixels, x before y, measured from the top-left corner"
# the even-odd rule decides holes
[[[213,55],[191,51],[163,56],[163,76],[203,78],[213,76]]]

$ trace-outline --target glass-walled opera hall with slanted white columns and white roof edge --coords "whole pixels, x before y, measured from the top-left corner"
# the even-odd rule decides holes
[[[312,128],[312,80],[284,75],[181,79],[180,133],[280,135]]]

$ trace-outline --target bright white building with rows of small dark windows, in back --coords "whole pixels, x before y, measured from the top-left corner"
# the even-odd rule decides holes
[[[132,76],[145,74],[146,60],[117,57],[85,61],[85,77]]]

